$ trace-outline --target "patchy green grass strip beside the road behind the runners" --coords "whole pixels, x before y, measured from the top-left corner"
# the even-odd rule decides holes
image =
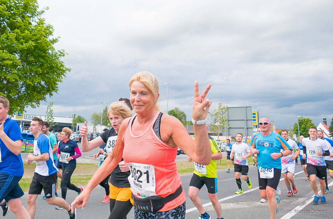
[[[221,160],[216,161],[217,162],[217,169],[226,169],[227,168],[227,161],[226,157],[223,157]],[[249,165],[253,164],[252,157],[248,158]],[[178,173],[179,174],[186,174],[191,173],[194,171],[194,164],[193,162],[187,162],[187,161],[177,161],[176,162]],[[32,181],[32,177],[35,172],[36,164],[23,164],[24,167],[24,175],[22,179],[20,180],[19,184],[23,191],[29,191],[30,183]],[[232,163],[230,162],[230,168],[233,168]],[[71,177],[71,183],[78,187],[86,186],[89,180],[93,177],[94,173],[97,170],[97,164],[76,164],[76,169],[73,172],[73,175]],[[60,189],[60,182],[59,179],[58,183],[58,189]]]

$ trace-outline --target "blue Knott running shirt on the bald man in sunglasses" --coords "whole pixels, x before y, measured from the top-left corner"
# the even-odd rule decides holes
[[[291,149],[286,140],[276,133],[271,133],[269,136],[262,136],[261,132],[256,133],[251,141],[250,146],[259,151],[258,153],[258,168],[276,168],[281,169],[281,158],[274,160],[270,154],[280,153],[282,150]]]

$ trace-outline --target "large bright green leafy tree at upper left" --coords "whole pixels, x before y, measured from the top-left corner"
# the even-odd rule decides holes
[[[39,107],[70,71],[53,45],[53,27],[42,18],[37,0],[1,0],[0,95],[10,102],[9,115]]]

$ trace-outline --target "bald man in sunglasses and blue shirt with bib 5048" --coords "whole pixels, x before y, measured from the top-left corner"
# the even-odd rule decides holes
[[[281,177],[281,157],[290,155],[292,151],[280,135],[270,131],[270,127],[268,118],[259,120],[261,132],[253,136],[250,150],[257,154],[260,196],[268,200],[270,218],[274,219],[279,212],[277,204],[280,198],[275,196],[275,192]]]

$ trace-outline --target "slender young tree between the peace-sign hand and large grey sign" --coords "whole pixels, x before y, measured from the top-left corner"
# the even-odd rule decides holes
[[[224,104],[225,102],[219,102],[218,109],[213,110],[213,112],[210,114],[210,117],[213,120],[213,124],[210,126],[210,131],[217,135],[217,139],[219,139],[223,128],[231,128],[229,126],[228,119],[226,118],[228,106]]]

